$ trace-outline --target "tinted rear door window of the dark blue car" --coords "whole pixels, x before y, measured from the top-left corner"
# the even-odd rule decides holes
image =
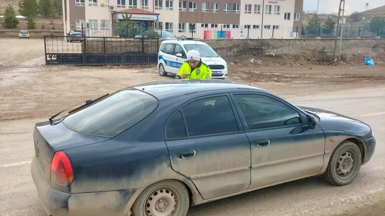
[[[194,101],[182,108],[189,136],[238,131],[230,102],[226,96]]]

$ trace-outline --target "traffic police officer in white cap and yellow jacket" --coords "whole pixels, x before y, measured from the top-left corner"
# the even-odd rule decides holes
[[[197,50],[187,52],[187,60],[182,64],[175,79],[211,79],[209,66],[202,62]]]

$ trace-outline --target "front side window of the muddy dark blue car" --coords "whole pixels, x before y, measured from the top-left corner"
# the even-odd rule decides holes
[[[249,130],[301,123],[297,111],[263,95],[234,95]]]

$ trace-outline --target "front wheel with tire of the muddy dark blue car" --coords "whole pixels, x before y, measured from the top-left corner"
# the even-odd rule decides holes
[[[323,177],[336,186],[350,184],[360,171],[361,160],[360,148],[352,141],[345,140],[331,154]]]

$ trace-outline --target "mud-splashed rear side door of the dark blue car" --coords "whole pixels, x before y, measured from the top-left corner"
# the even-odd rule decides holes
[[[204,199],[244,191],[250,184],[249,140],[228,94],[197,98],[166,122],[172,168],[191,179]]]

